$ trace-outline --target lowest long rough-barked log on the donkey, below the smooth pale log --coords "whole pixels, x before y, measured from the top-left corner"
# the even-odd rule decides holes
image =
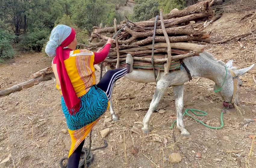
[[[173,55],[172,56],[172,60],[178,60],[178,59],[184,59],[184,58],[188,58],[188,57],[192,57],[192,56],[198,56],[199,53],[198,52],[189,52],[188,54],[181,54],[181,55]],[[125,61],[126,58],[120,58],[120,62]],[[133,57],[133,60],[136,61],[143,61],[143,62],[151,62],[151,58],[144,58],[144,57]],[[154,63],[158,64],[158,63],[164,63],[167,61],[167,58],[155,58],[154,59]],[[105,59],[104,62],[108,62],[108,63],[116,63],[117,59]]]

